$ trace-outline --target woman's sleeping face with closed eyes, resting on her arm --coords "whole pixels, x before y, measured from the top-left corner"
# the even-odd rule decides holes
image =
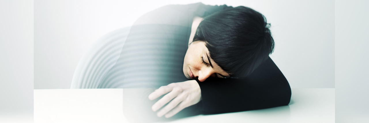
[[[189,79],[198,78],[200,82],[208,77],[229,77],[209,55],[204,41],[195,41],[189,45],[184,56],[183,73]]]

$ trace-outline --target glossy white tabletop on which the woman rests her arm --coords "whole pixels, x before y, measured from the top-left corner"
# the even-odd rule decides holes
[[[35,89],[35,123],[129,123],[123,89]],[[334,123],[334,88],[293,88],[288,106],[198,115],[169,123]]]

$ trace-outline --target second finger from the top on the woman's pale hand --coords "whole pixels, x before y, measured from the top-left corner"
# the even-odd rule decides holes
[[[163,96],[163,98],[159,99],[154,105],[152,105],[151,109],[156,112],[160,108],[162,108],[166,103],[171,101],[173,98],[177,97],[180,93],[182,93],[179,89],[173,89],[171,92]],[[169,104],[168,104],[169,105]]]

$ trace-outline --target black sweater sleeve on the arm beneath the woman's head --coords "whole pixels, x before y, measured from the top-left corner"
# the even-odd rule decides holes
[[[208,78],[198,83],[204,114],[284,106],[291,98],[288,81],[270,57],[246,78]]]

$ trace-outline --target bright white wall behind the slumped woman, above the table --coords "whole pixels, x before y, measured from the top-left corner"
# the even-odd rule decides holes
[[[70,88],[79,59],[99,37],[167,4],[200,0],[35,0],[34,89]],[[247,6],[272,24],[270,56],[292,88],[335,88],[334,0],[203,0]]]

